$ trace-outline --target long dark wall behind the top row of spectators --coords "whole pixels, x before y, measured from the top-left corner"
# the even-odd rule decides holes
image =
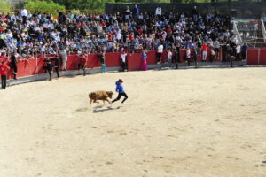
[[[133,9],[135,4],[106,4],[106,13],[124,12],[126,6]],[[138,4],[141,12],[155,12],[160,6],[163,13],[168,12],[192,12],[192,7],[197,5],[200,13],[219,12],[224,15],[231,15],[231,10],[235,9],[238,18],[259,18],[262,12],[266,12],[266,2],[227,2],[219,3],[199,3],[199,4]]]

